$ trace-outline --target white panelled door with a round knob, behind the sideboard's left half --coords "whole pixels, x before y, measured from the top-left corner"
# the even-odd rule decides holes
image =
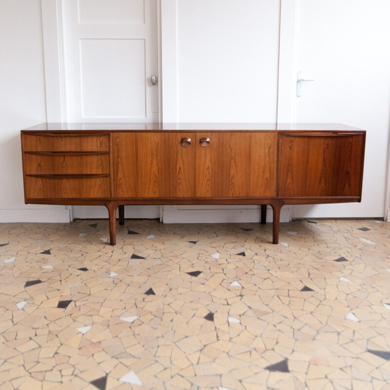
[[[157,0],[63,3],[68,121],[158,121]],[[159,216],[158,206],[132,209],[132,217]],[[74,207],[74,217],[107,210]]]

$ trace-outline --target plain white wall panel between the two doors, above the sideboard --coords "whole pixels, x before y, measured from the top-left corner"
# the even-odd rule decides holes
[[[176,4],[178,121],[275,122],[280,1]]]

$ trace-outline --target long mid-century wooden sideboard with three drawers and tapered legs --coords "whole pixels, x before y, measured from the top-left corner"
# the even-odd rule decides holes
[[[110,244],[124,205],[360,202],[366,132],[340,124],[42,123],[21,131],[26,203],[104,205]]]

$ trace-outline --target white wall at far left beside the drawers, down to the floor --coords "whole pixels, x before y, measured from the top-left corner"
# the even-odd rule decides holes
[[[69,221],[23,198],[20,130],[46,121],[40,0],[0,1],[0,118],[0,222]]]

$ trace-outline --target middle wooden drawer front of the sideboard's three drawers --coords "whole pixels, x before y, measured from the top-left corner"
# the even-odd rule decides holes
[[[24,154],[25,174],[109,174],[107,155],[51,156]]]

